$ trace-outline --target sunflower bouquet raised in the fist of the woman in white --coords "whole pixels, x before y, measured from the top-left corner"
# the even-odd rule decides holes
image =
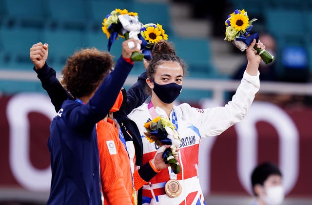
[[[225,21],[226,31],[224,40],[228,40],[234,44],[240,51],[245,51],[250,43],[255,39],[258,40],[259,34],[250,34],[256,18],[249,20],[247,12],[236,9],[232,14],[228,16]],[[265,64],[271,63],[274,60],[274,56],[264,50],[254,46],[254,49],[261,56]]]

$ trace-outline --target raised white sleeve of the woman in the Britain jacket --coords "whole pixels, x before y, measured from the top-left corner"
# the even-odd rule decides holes
[[[259,71],[256,76],[251,76],[245,71],[232,101],[223,107],[204,109],[199,129],[201,136],[220,135],[236,122],[243,120],[259,88]]]

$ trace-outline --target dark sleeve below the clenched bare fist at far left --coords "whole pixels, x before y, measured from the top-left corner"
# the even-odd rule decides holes
[[[41,81],[43,89],[47,91],[57,112],[65,100],[73,99],[60,84],[58,78],[56,77],[55,70],[49,67],[47,63],[45,63],[41,69],[36,69],[35,67],[33,69],[37,72],[37,77]]]

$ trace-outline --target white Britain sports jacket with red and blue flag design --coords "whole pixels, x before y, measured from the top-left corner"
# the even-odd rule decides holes
[[[200,137],[217,136],[243,120],[249,110],[255,93],[259,90],[259,72],[256,76],[249,75],[246,71],[238,86],[232,101],[223,107],[198,109],[187,103],[174,106],[176,113],[178,133],[181,137],[179,147],[179,164],[181,171],[177,175],[171,173],[170,168],[160,171],[147,185],[143,186],[144,205],[204,205],[205,200],[198,178],[198,148]],[[164,110],[156,107],[159,116],[168,117]],[[143,164],[152,159],[158,147],[150,143],[144,136],[144,123],[152,120],[148,104],[143,103],[134,109],[128,117],[137,123],[143,141]],[[164,186],[171,178],[177,179],[182,187],[179,196],[171,198],[166,195]]]

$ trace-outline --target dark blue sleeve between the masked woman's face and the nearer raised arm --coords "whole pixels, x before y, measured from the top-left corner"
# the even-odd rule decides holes
[[[123,108],[125,115],[128,115],[133,109],[143,104],[143,102],[145,102],[149,97],[149,95],[145,92],[146,78],[146,72],[143,72],[137,78],[137,83],[132,85],[127,91],[127,103]]]

